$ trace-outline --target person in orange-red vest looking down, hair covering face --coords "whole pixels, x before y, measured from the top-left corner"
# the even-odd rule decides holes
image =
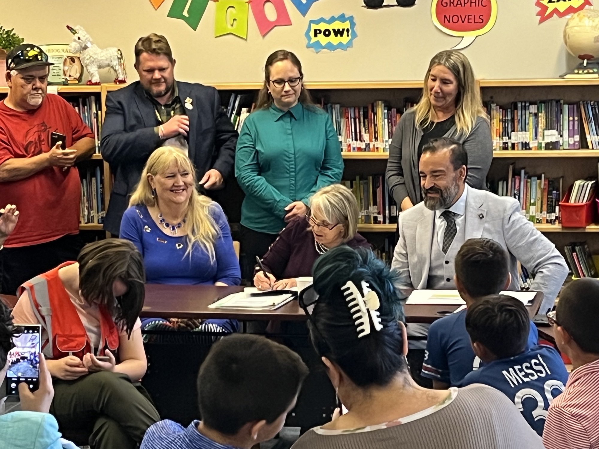
[[[42,327],[54,378],[50,413],[63,432],[92,429],[95,449],[137,448],[159,420],[139,384],[147,368],[138,318],[145,280],[135,245],[105,239],[19,289],[14,321]]]

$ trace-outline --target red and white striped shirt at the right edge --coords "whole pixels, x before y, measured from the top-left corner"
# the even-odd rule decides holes
[[[547,449],[599,449],[599,360],[571,372],[564,393],[549,406]]]

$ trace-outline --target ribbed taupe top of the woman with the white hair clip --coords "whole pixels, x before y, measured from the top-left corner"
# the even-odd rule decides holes
[[[543,449],[540,436],[503,393],[480,384],[449,391],[440,404],[390,423],[315,427],[292,449]]]

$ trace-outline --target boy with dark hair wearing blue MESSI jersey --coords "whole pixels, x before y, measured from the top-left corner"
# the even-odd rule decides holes
[[[568,372],[552,347],[527,348],[530,319],[524,304],[507,295],[481,299],[468,308],[466,329],[485,365],[468,374],[463,386],[485,384],[504,393],[543,435],[547,409],[564,391]]]

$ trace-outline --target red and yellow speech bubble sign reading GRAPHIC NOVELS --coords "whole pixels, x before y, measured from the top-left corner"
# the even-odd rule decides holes
[[[468,47],[497,21],[497,0],[432,0],[432,22],[446,34],[461,37],[454,50]]]

